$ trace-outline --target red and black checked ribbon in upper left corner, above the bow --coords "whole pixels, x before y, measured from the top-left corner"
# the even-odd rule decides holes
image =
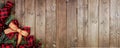
[[[13,7],[13,3],[7,1],[5,6],[0,9],[0,30],[5,25],[5,20],[10,15],[11,8]]]

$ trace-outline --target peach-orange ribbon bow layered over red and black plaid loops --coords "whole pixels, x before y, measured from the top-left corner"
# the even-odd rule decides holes
[[[12,22],[10,22],[9,28],[4,30],[5,34],[18,33],[17,45],[20,44],[22,36],[27,37],[30,34],[30,27],[24,27],[24,29],[21,29],[18,26],[18,21],[13,20]]]

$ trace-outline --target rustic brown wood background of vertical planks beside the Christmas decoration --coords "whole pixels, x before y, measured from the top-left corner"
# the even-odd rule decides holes
[[[120,0],[15,0],[15,12],[46,48],[120,47]]]

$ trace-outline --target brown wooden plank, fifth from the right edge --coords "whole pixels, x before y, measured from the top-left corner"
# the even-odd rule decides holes
[[[77,0],[67,1],[67,48],[77,47]]]

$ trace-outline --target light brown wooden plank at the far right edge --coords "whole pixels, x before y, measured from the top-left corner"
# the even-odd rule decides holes
[[[110,0],[110,47],[120,47],[120,0]]]

